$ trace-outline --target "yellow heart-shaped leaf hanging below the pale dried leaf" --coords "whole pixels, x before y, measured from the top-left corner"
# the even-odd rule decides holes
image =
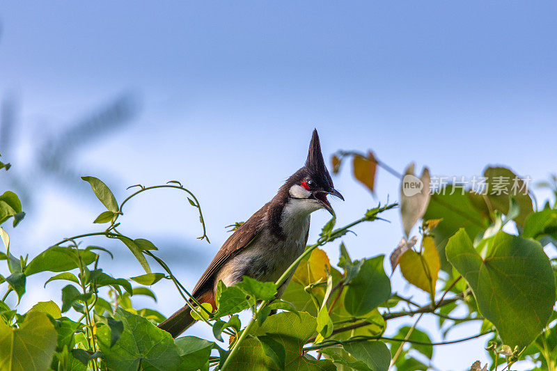
[[[400,271],[412,285],[435,294],[435,284],[441,262],[432,237],[424,237],[422,254],[408,250],[400,257]]]

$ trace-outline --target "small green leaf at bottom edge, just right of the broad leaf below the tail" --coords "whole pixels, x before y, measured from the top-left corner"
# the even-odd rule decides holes
[[[182,358],[180,370],[197,371],[209,369],[209,356],[214,347],[214,342],[196,338],[195,336],[182,336],[174,340],[178,347],[178,354]]]

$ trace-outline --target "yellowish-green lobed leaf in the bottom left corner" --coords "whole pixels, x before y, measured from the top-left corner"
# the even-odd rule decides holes
[[[56,331],[44,313],[27,313],[19,329],[0,321],[0,370],[47,370],[55,348]]]

